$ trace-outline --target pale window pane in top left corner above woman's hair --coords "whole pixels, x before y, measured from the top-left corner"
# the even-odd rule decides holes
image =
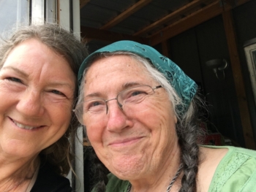
[[[0,33],[13,27],[29,25],[28,0],[0,0]]]

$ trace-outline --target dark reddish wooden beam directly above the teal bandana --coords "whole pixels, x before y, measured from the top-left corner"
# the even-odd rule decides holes
[[[89,28],[85,26],[80,26],[81,37],[86,40],[86,42],[91,39],[98,39],[106,42],[116,42],[120,40],[132,40],[135,42],[140,42],[143,44],[148,44],[148,40],[143,37],[133,37],[127,34],[118,34],[116,32],[101,30],[97,28]]]

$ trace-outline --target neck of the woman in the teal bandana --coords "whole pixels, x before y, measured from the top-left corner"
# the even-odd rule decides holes
[[[167,155],[164,161],[161,162],[157,169],[151,174],[146,175],[146,177],[140,180],[129,180],[132,184],[132,192],[135,191],[167,191],[167,186],[170,184],[170,181],[173,180],[178,168],[181,164],[180,161],[180,148],[178,144],[176,150],[173,153]],[[177,188],[181,183],[181,174],[177,177],[176,182],[173,184],[172,189]],[[172,190],[171,190],[172,191]]]

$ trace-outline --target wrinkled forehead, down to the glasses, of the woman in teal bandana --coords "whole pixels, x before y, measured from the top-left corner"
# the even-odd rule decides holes
[[[129,55],[111,55],[91,63],[86,72],[84,85],[87,93],[122,91],[136,85],[154,85],[147,69]]]

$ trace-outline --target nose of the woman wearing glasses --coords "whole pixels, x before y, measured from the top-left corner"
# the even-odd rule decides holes
[[[108,102],[108,131],[121,132],[124,128],[132,127],[133,123],[124,110],[115,101]]]

